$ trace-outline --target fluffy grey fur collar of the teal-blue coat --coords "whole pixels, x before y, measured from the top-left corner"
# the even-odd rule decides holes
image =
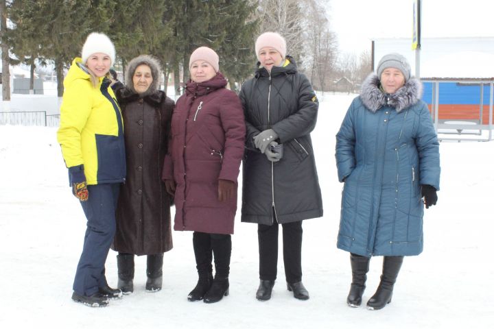
[[[386,94],[380,87],[381,81],[375,73],[371,73],[362,84],[360,100],[372,112],[376,112],[385,105],[392,106],[400,112],[416,104],[422,97],[422,84],[414,77],[410,78],[396,93]]]

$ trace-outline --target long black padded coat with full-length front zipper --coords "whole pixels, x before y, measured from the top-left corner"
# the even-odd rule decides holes
[[[287,56],[285,66],[256,71],[240,92],[247,135],[243,162],[242,221],[271,225],[322,217],[322,198],[310,132],[318,100],[309,80]],[[272,129],[283,158],[270,162],[253,138]]]

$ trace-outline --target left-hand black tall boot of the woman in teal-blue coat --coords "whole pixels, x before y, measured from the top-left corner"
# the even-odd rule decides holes
[[[358,307],[362,304],[362,295],[364,295],[369,263],[371,263],[371,258],[350,254],[352,283],[350,293],[346,297],[346,304],[350,307]]]

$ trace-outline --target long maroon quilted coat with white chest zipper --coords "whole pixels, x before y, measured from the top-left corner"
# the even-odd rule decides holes
[[[173,179],[178,231],[233,234],[237,193],[218,201],[218,179],[237,185],[246,126],[239,97],[221,73],[207,82],[187,82],[176,103],[163,180]]]

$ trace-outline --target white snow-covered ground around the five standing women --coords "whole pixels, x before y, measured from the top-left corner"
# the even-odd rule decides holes
[[[346,306],[351,271],[349,254],[336,249],[342,185],[334,136],[352,98],[320,97],[312,138],[325,216],[303,224],[306,302],[287,291],[281,254],[272,299],[255,299],[257,227],[238,216],[230,295],[221,302],[187,302],[197,280],[191,232],[174,232],[162,291],[145,293],[139,257],[134,294],[106,308],[72,302],[86,219],[68,186],[56,128],[0,126],[0,328],[493,328],[494,142],[440,144],[441,190],[437,206],[425,210],[423,254],[405,258],[386,308]],[[364,303],[381,260],[371,261]],[[106,273],[115,287],[113,251]]]

